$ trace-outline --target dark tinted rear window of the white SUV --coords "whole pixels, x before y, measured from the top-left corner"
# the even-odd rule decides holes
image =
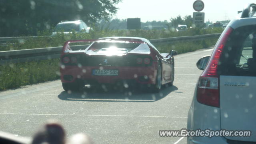
[[[237,28],[224,46],[218,74],[256,76],[256,25]]]

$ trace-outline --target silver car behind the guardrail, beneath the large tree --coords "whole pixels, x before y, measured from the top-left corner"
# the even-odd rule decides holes
[[[90,27],[88,27],[82,20],[59,22],[55,26],[52,35],[56,35],[58,32],[64,32],[64,34],[69,34],[73,30],[75,32],[89,33]]]

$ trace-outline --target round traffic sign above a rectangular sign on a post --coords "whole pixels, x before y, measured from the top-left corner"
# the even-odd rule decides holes
[[[193,8],[197,12],[193,12],[193,23],[196,26],[204,26],[204,12],[201,12],[204,9],[204,2],[202,0],[196,0],[193,3]]]

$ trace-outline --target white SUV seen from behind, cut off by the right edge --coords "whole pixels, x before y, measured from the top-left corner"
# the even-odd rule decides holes
[[[188,112],[188,131],[249,130],[251,136],[193,136],[188,144],[256,144],[256,4],[228,24],[212,55],[197,66],[204,71]]]

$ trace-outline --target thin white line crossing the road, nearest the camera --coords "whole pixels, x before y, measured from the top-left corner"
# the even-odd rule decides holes
[[[128,115],[98,115],[98,114],[1,114],[1,115],[33,115],[33,116],[109,116],[109,117],[144,117],[144,118],[188,118],[186,116],[128,116]]]

